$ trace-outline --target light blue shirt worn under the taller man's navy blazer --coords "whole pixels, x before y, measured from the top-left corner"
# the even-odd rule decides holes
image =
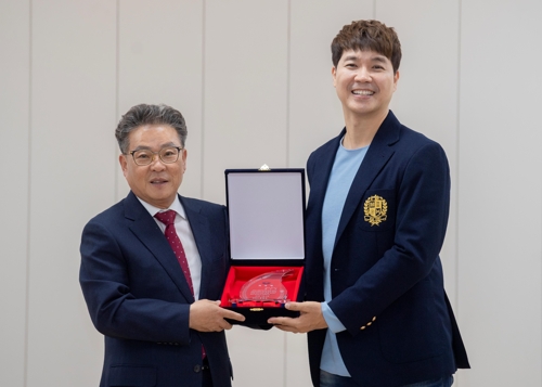
[[[320,361],[320,369],[331,374],[350,376],[343,362],[337,345],[336,333],[345,331],[345,325],[337,319],[327,306],[332,300],[332,285],[330,268],[332,263],[333,247],[337,228],[345,207],[346,197],[352,185],[353,178],[367,153],[369,145],[357,150],[347,150],[343,140],[335,155],[332,173],[325,191],[324,206],[322,209],[322,250],[324,255],[324,299],[322,313],[328,330],[325,336],[324,348]]]

